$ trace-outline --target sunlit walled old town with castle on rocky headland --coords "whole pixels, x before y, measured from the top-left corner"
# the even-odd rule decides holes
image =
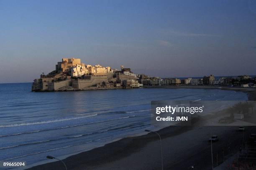
[[[80,58],[62,58],[51,73],[35,79],[32,91],[75,91],[137,88],[138,76],[130,68],[111,69],[81,63]]]

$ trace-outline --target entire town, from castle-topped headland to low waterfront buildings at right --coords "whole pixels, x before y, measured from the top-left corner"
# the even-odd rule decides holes
[[[248,75],[215,78],[160,78],[144,74],[134,74],[130,68],[120,66],[120,70],[81,63],[79,58],[62,58],[54,71],[41,74],[35,79],[32,91],[72,91],[94,89],[131,89],[154,86],[239,86],[255,87],[256,78]]]

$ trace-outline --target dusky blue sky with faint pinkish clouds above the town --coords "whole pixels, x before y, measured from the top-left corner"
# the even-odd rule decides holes
[[[256,75],[256,1],[0,0],[0,83],[71,57],[159,77]]]

